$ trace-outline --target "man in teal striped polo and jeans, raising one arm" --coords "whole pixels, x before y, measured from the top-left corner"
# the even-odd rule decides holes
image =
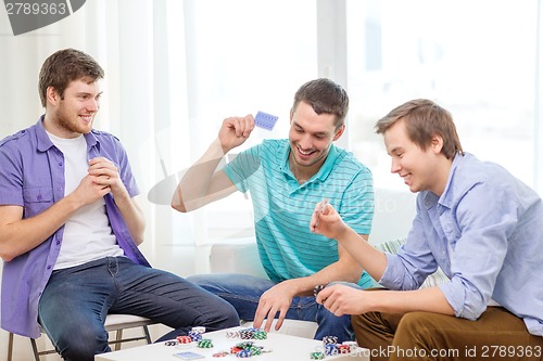
[[[334,317],[315,302],[313,289],[344,281],[366,288],[372,279],[333,240],[312,233],[314,204],[327,198],[344,221],[367,240],[374,216],[371,173],[336,145],[345,130],[345,90],[329,79],[304,83],[294,95],[289,139],[266,140],[241,152],[216,171],[222,157],[243,144],[254,129],[252,115],[223,121],[218,138],[186,172],[172,206],[190,211],[235,191],[250,191],[256,243],[268,280],[247,274],[189,278],[228,300],[243,320],[269,331],[277,317],[316,321],[316,339],[353,339],[350,317]]]

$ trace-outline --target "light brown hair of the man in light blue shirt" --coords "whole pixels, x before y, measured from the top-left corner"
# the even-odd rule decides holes
[[[422,151],[432,142],[433,136],[443,138],[441,153],[452,159],[456,153],[464,154],[453,117],[449,111],[427,99],[408,101],[393,108],[375,126],[378,134],[383,134],[396,121],[404,120],[409,140]]]

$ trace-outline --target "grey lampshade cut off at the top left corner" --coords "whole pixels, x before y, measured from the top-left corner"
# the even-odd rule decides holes
[[[13,35],[17,36],[56,23],[79,10],[86,0],[4,0]]]

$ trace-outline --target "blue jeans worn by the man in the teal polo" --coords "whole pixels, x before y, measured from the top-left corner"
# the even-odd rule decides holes
[[[187,280],[226,299],[236,308],[239,318],[245,321],[254,320],[262,294],[276,285],[270,280],[238,273],[192,275]],[[286,319],[316,322],[318,328],[315,339],[320,340],[324,336],[337,336],[340,343],[354,339],[351,317],[333,315],[323,305],[317,304],[313,296],[294,297]]]

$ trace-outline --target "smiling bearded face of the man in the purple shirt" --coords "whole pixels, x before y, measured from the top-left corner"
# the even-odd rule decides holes
[[[100,108],[99,81],[74,80],[64,90],[63,96],[49,87],[43,126],[60,138],[77,138],[92,130],[94,116]]]

